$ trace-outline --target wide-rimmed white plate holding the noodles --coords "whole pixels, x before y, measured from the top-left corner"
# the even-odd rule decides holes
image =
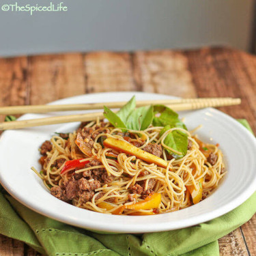
[[[53,104],[129,100],[134,94],[137,100],[172,98],[159,94],[118,92],[76,96]],[[20,119],[49,115],[27,114]],[[216,109],[190,111],[184,115],[189,130],[202,124],[203,128],[197,132],[199,137],[220,143],[228,171],[210,197],[190,208],[156,216],[115,216],[76,208],[53,197],[30,167],[40,169],[38,148],[44,140],[50,139],[56,131],[72,131],[78,123],[3,132],[0,139],[1,184],[13,197],[35,212],[70,225],[98,231],[144,233],[180,229],[209,221],[233,210],[255,192],[255,138],[235,119]]]

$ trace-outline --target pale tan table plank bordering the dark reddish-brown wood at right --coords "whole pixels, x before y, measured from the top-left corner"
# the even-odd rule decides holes
[[[171,94],[184,98],[197,96],[188,59],[173,51],[134,54],[134,79],[141,91]]]

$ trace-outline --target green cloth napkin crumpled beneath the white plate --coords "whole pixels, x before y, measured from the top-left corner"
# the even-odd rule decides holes
[[[241,124],[251,129],[246,120]],[[219,255],[218,238],[246,223],[255,212],[256,193],[231,212],[193,227],[139,235],[102,234],[33,212],[0,188],[0,233],[51,256]]]

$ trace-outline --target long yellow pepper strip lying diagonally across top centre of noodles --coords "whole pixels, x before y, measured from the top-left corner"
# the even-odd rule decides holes
[[[141,150],[139,147],[135,147],[134,145],[122,141],[121,139],[108,138],[103,142],[105,147],[111,147],[114,150],[119,150],[126,154],[130,154],[132,156],[136,156],[137,158],[144,160],[145,162],[154,163],[160,167],[167,168],[168,162],[163,160],[162,158],[145,152]]]

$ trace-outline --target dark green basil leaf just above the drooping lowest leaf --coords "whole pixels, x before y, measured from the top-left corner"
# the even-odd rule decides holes
[[[172,109],[164,105],[154,105],[154,115],[159,114],[159,117],[154,117],[153,126],[171,126],[187,130],[185,124],[180,121],[179,115]]]

